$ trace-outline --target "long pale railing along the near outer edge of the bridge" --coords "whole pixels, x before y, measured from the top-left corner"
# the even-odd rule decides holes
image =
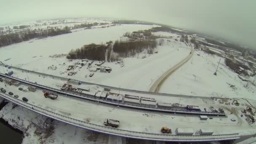
[[[151,140],[164,140],[164,141],[179,141],[180,139],[182,139],[181,141],[184,141],[185,139],[189,139],[189,141],[200,141],[200,140],[207,141],[207,140],[224,140],[224,139],[239,139],[240,138],[239,133],[219,134],[219,135],[201,135],[201,136],[196,136],[196,135],[178,136],[178,135],[170,135],[170,134],[145,133],[145,132],[122,130],[122,129],[111,128],[111,127],[102,126],[102,125],[96,125],[96,124],[88,123],[88,122],[85,122],[82,120],[77,120],[72,117],[60,115],[58,113],[51,112],[47,109],[37,107],[33,104],[29,104],[25,101],[21,101],[20,99],[9,96],[2,92],[0,92],[0,96],[3,97],[4,99],[8,99],[16,104],[19,104],[22,107],[30,109],[39,114],[45,115],[47,117],[51,117],[53,119],[60,120],[60,121],[63,121],[65,123],[69,123],[69,124],[73,124],[73,125],[75,124],[76,126],[79,126],[81,128],[86,128],[89,130],[99,131],[99,132],[107,133],[107,134],[114,134],[117,136],[125,136],[125,137],[131,137],[131,138],[141,138],[141,139],[151,139]],[[51,115],[49,115],[49,114],[51,114]],[[111,131],[104,131],[103,129],[107,129],[107,130],[111,130]],[[122,132],[124,132],[124,134]]]

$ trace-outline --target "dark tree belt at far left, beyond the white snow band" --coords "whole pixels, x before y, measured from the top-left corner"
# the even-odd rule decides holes
[[[48,36],[55,36],[61,34],[70,33],[69,27],[64,27],[63,29],[40,29],[40,30],[27,30],[20,33],[9,33],[0,35],[0,47],[11,45],[14,43],[20,43],[22,41],[31,40],[37,37],[48,37]]]

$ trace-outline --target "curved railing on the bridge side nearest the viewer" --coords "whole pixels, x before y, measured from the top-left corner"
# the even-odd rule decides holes
[[[51,112],[47,109],[43,109],[43,108],[35,106],[33,104],[29,104],[25,101],[17,99],[13,96],[9,96],[8,94],[2,93],[2,92],[0,92],[0,96],[2,96],[5,99],[13,101],[16,104],[21,105],[22,107],[29,108],[29,109],[37,112],[37,113],[44,114],[45,116],[53,117],[56,120],[62,120],[64,122],[73,123],[75,125],[80,125],[80,127],[82,127],[82,128],[90,128],[92,130],[98,130],[98,131],[101,131],[103,133],[107,132],[107,133],[123,135],[123,136],[138,136],[138,137],[144,137],[144,138],[152,138],[151,136],[155,136],[155,138],[157,138],[157,139],[160,139],[160,138],[171,139],[171,138],[177,138],[177,137],[184,138],[184,139],[189,138],[189,137],[191,137],[191,138],[192,137],[194,137],[194,138],[197,137],[198,139],[206,139],[206,138],[209,138],[209,139],[221,139],[221,138],[224,139],[225,138],[225,139],[227,139],[227,138],[239,137],[238,133],[219,134],[219,135],[200,135],[200,136],[196,136],[196,135],[178,136],[178,135],[170,135],[170,134],[128,131],[128,130],[123,130],[123,129],[118,129],[118,128],[111,128],[111,127],[107,127],[107,126],[97,125],[97,124],[93,124],[93,123],[88,123],[86,121],[77,120],[75,118],[67,117],[65,115],[60,115],[56,112]],[[106,131],[106,129],[111,130],[111,131]]]

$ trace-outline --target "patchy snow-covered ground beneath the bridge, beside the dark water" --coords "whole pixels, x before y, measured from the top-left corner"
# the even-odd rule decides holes
[[[0,116],[3,116],[3,119],[8,121],[10,125],[19,125],[28,129],[27,133],[24,134],[22,144],[40,144],[41,141],[45,141],[45,144],[122,144],[120,137],[88,131],[56,120],[52,124],[54,127],[53,134],[44,138],[45,132],[43,130],[50,126],[50,124],[45,124],[48,120],[47,117],[22,107],[14,109],[12,107],[13,103],[9,102],[0,111]],[[43,133],[35,134],[36,130]]]

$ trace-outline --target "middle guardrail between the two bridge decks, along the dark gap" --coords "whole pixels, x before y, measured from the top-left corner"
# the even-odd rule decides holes
[[[111,104],[111,105],[115,105],[115,106],[121,106],[121,107],[128,107],[128,108],[135,108],[135,109],[143,109],[143,110],[152,110],[152,111],[158,111],[158,112],[169,112],[169,113],[177,113],[177,114],[188,114],[188,115],[211,115],[211,116],[224,116],[226,117],[225,114],[222,114],[220,112],[203,112],[203,111],[185,111],[185,110],[171,110],[171,109],[156,109],[156,108],[149,108],[149,107],[139,107],[139,106],[132,106],[130,104],[122,104],[122,103],[118,103],[118,102],[113,102],[113,101],[107,101],[107,100],[104,100],[104,99],[93,99],[93,95],[90,95],[90,94],[87,94],[88,96],[85,96],[85,95],[81,95],[79,93],[72,93],[72,92],[67,92],[67,91],[61,91],[59,89],[56,89],[56,88],[51,88],[51,87],[48,87],[48,86],[45,86],[45,85],[40,85],[40,84],[37,84],[37,83],[32,83],[32,82],[29,82],[27,80],[22,80],[20,78],[17,78],[17,77],[11,77],[11,76],[7,76],[7,75],[3,75],[0,73],[0,76],[3,76],[3,77],[8,77],[10,79],[13,79],[13,80],[18,80],[19,82],[21,83],[26,83],[26,84],[29,84],[29,85],[33,85],[33,86],[36,86],[36,87],[40,87],[40,88],[43,88],[43,89],[48,89],[50,91],[54,91],[56,93],[61,93],[61,94],[64,94],[64,95],[69,95],[69,96],[73,96],[73,97],[77,97],[77,98],[81,98],[81,99],[85,99],[85,100],[89,100],[89,101],[97,101],[97,102],[101,102],[101,103],[104,103],[104,104]]]

